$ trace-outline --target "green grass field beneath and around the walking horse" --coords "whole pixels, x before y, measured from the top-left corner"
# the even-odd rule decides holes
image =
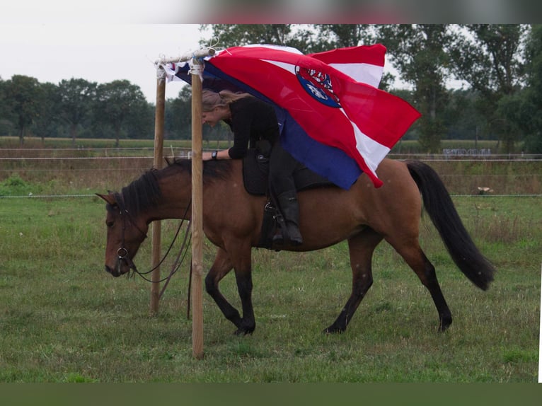
[[[510,185],[516,172],[541,173],[536,163],[519,170],[454,165],[503,177],[502,190],[517,190]],[[478,179],[454,180],[459,172],[449,171],[452,192],[469,185],[471,193],[454,202],[498,273],[488,291],[475,288],[424,219],[422,246],[454,316],[444,334],[437,332],[428,292],[384,243],[374,256],[374,285],[347,332],[330,336],[321,330],[350,294],[345,244],[314,253],[254,250],[254,334],[232,335],[233,325],[204,294],[205,356],[197,361],[186,315],[188,265],[175,274],[154,316],[147,282],[103,271],[105,209],[93,193],[120,187],[139,169],[120,171],[120,178],[27,169],[0,180],[0,195],[18,196],[0,199],[0,382],[537,381],[540,197],[475,195]],[[71,192],[83,196],[21,197]],[[164,248],[176,225],[163,222]],[[139,269],[150,267],[150,249],[148,241],[136,258]],[[205,265],[213,257],[206,244]],[[233,277],[221,288],[238,306]]]

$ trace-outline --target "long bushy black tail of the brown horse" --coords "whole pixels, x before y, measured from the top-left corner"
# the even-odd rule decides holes
[[[488,289],[495,268],[476,248],[439,175],[420,161],[406,161],[406,165],[452,260],[473,284],[480,289]]]

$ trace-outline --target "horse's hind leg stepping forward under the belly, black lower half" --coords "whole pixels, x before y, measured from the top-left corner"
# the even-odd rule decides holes
[[[335,323],[324,330],[325,333],[344,332],[354,312],[365,294],[373,284],[371,260],[374,248],[382,240],[382,236],[371,228],[364,230],[348,240],[350,251],[350,267],[352,267],[352,294],[342,308]]]

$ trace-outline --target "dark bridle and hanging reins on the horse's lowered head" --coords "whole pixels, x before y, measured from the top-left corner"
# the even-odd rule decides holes
[[[122,197],[122,195],[120,193],[118,193],[118,192],[115,192],[113,194],[113,196],[115,197],[115,202],[117,203],[117,207],[119,209],[119,214],[120,214],[120,217],[122,219],[121,245],[120,245],[120,248],[117,250],[117,271],[118,271],[118,273],[120,274],[120,265],[124,261],[125,264],[128,265],[129,269],[132,270],[133,275],[138,274],[140,277],[145,279],[147,282],[161,283],[161,282],[164,282],[166,280],[171,279],[171,276],[175,272],[177,272],[177,269],[180,266],[180,262],[182,262],[182,260],[179,261],[181,255],[183,256],[183,258],[186,255],[187,250],[185,249],[185,247],[187,246],[187,239],[188,239],[188,235],[189,235],[188,232],[185,234],[185,240],[183,241],[183,246],[181,247],[181,250],[180,250],[180,253],[179,253],[178,257],[177,257],[177,260],[175,260],[175,265],[173,266],[173,269],[171,270],[171,273],[168,275],[168,277],[165,277],[165,278],[160,279],[158,281],[154,281],[154,280],[151,280],[148,277],[146,277],[146,275],[150,274],[154,270],[158,269],[158,267],[160,267],[162,265],[163,261],[166,260],[166,257],[169,255],[169,253],[171,251],[171,248],[173,248],[173,244],[175,243],[175,240],[177,240],[177,238],[179,236],[180,229],[182,228],[183,223],[184,223],[184,217],[188,213],[188,209],[190,209],[191,201],[188,204],[188,206],[186,207],[185,215],[183,216],[183,220],[180,221],[180,224],[179,224],[179,226],[177,228],[177,231],[175,232],[175,236],[173,237],[173,240],[171,241],[171,244],[169,245],[169,248],[166,251],[166,254],[163,255],[162,259],[152,269],[149,269],[149,271],[146,271],[146,272],[139,272],[139,270],[137,270],[136,265],[134,264],[134,261],[132,260],[132,257],[130,257],[128,255],[128,250],[125,247],[125,245],[126,245],[125,244],[125,233],[126,233],[127,223],[132,224],[132,226],[134,226],[137,229],[137,231],[139,231],[139,233],[142,234],[142,236],[143,236],[142,242],[147,238],[147,234],[141,228],[139,228],[139,226],[137,226],[136,222],[132,219],[132,215],[129,214],[129,211],[126,209],[126,204],[125,204],[124,197]],[[190,230],[190,222],[188,224],[187,231],[188,230]],[[183,252],[184,252],[184,255],[183,255]],[[166,288],[166,286],[163,287],[162,293],[163,293],[163,290],[165,288]]]

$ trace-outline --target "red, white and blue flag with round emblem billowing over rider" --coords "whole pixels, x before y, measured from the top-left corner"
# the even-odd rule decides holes
[[[377,88],[383,45],[301,54],[290,47],[231,47],[204,59],[203,87],[246,91],[275,105],[280,141],[308,168],[349,189],[376,168],[420,117],[410,104]],[[188,66],[169,74],[190,83]],[[166,69],[168,71],[168,69]]]

